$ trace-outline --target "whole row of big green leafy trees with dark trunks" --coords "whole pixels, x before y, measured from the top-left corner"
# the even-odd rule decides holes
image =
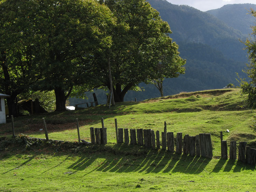
[[[144,0],[3,0],[0,10],[0,91],[11,95],[10,115],[31,90],[54,90],[62,111],[70,95],[105,87],[122,102],[141,82],[185,72],[168,23]]]

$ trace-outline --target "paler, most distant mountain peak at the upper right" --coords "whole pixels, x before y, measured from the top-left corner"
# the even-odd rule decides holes
[[[256,4],[228,4],[222,8],[209,10],[210,13],[222,20],[228,26],[240,30],[243,34],[252,32],[250,26],[255,25],[255,18],[248,13],[248,10],[256,9]]]

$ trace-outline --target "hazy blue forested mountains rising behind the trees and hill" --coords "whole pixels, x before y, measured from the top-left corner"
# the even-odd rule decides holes
[[[240,42],[246,39],[247,33],[241,32],[239,26],[243,23],[242,28],[249,29],[251,20],[254,19],[244,12],[244,6],[248,8],[248,4],[228,5],[224,6],[225,9],[218,9],[225,10],[230,20],[234,18],[231,24],[221,17],[215,17],[212,13],[214,10],[202,12],[187,5],[174,5],[166,0],[148,2],[169,23],[172,30],[170,37],[179,45],[180,56],[187,60],[185,75],[164,80],[164,95],[223,88],[229,83],[238,85],[236,72],[243,77],[242,69],[247,62],[244,45]],[[235,8],[239,11],[234,11]],[[235,13],[236,16],[233,15]],[[128,91],[125,101],[132,101],[134,97],[137,100],[160,97],[160,92],[154,85],[142,83],[140,86],[145,91]]]

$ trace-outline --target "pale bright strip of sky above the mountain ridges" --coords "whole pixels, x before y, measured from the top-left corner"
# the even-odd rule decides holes
[[[226,4],[252,3],[256,4],[256,0],[167,0],[175,5],[189,5],[201,11],[221,8]]]

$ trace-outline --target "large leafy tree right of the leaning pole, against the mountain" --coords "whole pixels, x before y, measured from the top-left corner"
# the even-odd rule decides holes
[[[102,67],[102,84],[110,89],[108,63],[110,61],[113,93],[116,102],[124,101],[128,90],[149,78],[157,78],[158,64],[162,55],[171,56],[171,61],[179,55],[177,46],[159,46],[161,41],[171,42],[167,22],[145,0],[105,0],[104,2],[117,18],[117,27],[112,31],[112,47],[106,53]],[[163,45],[163,44],[161,44]],[[171,54],[174,53],[175,54]],[[184,63],[184,62],[183,62]]]

